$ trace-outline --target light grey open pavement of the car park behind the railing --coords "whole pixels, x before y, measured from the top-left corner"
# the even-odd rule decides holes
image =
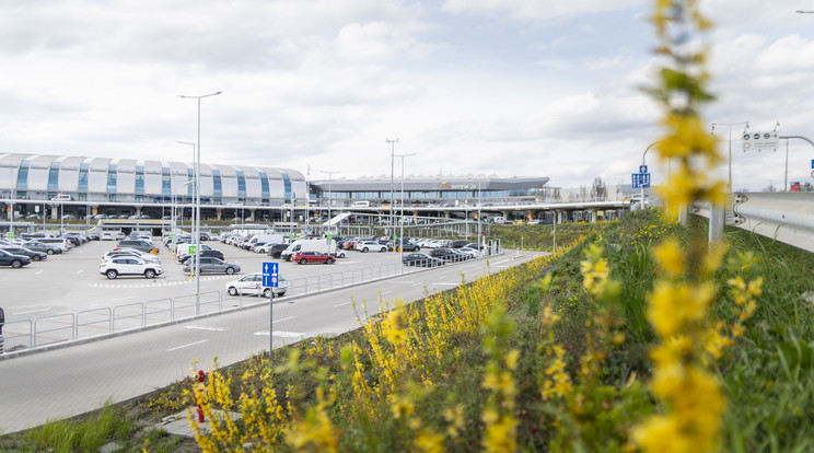
[[[154,237],[154,242],[161,244],[159,237]],[[142,276],[119,276],[115,280],[107,279],[98,272],[98,265],[102,256],[113,249],[116,244],[116,241],[92,241],[70,252],[51,255],[46,260],[32,263],[21,269],[0,267],[0,284],[3,288],[1,300],[7,321],[77,313],[195,294],[195,281],[182,271],[177,259],[163,245],[159,245],[161,252],[158,255],[164,270],[163,275],[153,279],[146,279]],[[362,274],[365,277],[374,277],[375,269],[382,266],[389,266],[389,269],[399,266],[397,253],[351,251],[347,253],[346,258],[339,258],[333,265],[302,266],[243,251],[218,241],[209,241],[207,244],[223,252],[226,262],[239,264],[241,271],[234,276],[202,275],[200,277],[201,293],[222,291],[228,281],[248,272],[261,271],[264,262],[280,263],[280,275],[289,280],[324,276],[326,282],[332,279],[337,283],[339,279],[358,278]],[[301,289],[293,288],[291,294],[295,294],[298,290]]]

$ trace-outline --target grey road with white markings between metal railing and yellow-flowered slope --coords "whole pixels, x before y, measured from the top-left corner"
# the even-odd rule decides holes
[[[507,253],[491,257],[489,266],[498,271],[535,255]],[[93,259],[97,266],[98,258]],[[467,281],[474,280],[484,275],[486,264],[486,260],[467,262],[314,295],[276,299],[274,346],[359,327],[351,299],[358,304],[364,302],[368,313],[376,313],[381,304],[392,305],[397,299],[410,302],[426,293],[456,287],[461,284],[462,272]],[[311,271],[306,270],[311,268],[301,270]],[[214,357],[221,365],[231,364],[268,350],[268,346],[266,304],[0,360],[0,432],[83,414],[98,408],[108,398],[121,402],[139,396],[190,375],[197,368],[207,369]]]

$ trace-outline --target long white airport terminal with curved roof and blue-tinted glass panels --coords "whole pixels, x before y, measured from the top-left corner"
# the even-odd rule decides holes
[[[4,218],[69,213],[161,219],[172,207],[184,216],[191,213],[194,175],[194,165],[183,162],[0,154],[0,207]],[[410,177],[404,183],[404,198],[405,206],[421,207],[478,199],[522,202],[545,198],[547,184],[547,177]],[[328,205],[337,209],[367,200],[381,206],[400,198],[400,178],[306,181],[290,169],[200,164],[203,219],[290,220]]]

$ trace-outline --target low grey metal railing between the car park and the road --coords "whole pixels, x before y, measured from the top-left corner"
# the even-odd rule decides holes
[[[502,254],[497,249],[493,255]],[[477,259],[482,259],[482,255]],[[462,262],[466,263],[466,262]],[[419,271],[417,267],[399,264],[373,266],[287,280],[287,294],[313,294],[322,291],[350,287],[387,277],[396,277]],[[224,302],[225,301],[225,302]],[[239,307],[259,305],[268,299],[257,295],[230,297],[225,291],[200,293],[200,314],[229,312]],[[4,352],[20,349],[36,349],[61,342],[69,342],[120,332],[136,330],[178,320],[194,318],[195,294],[178,295],[173,299],[159,299],[135,302],[113,307],[84,310],[78,313],[62,313],[35,320],[7,322],[2,339]]]

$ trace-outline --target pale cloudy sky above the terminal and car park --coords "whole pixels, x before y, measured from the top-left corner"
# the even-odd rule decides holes
[[[659,138],[644,0],[3,0],[0,153],[391,174],[630,183]],[[812,0],[702,1],[716,23],[710,123],[814,140]],[[732,126],[739,139],[744,126]],[[722,149],[730,127],[717,126]],[[733,186],[782,187],[786,144]],[[789,147],[789,179],[814,149]],[[653,182],[666,177],[649,159]],[[396,176],[400,166],[396,164]],[[724,177],[725,169],[721,173]]]

